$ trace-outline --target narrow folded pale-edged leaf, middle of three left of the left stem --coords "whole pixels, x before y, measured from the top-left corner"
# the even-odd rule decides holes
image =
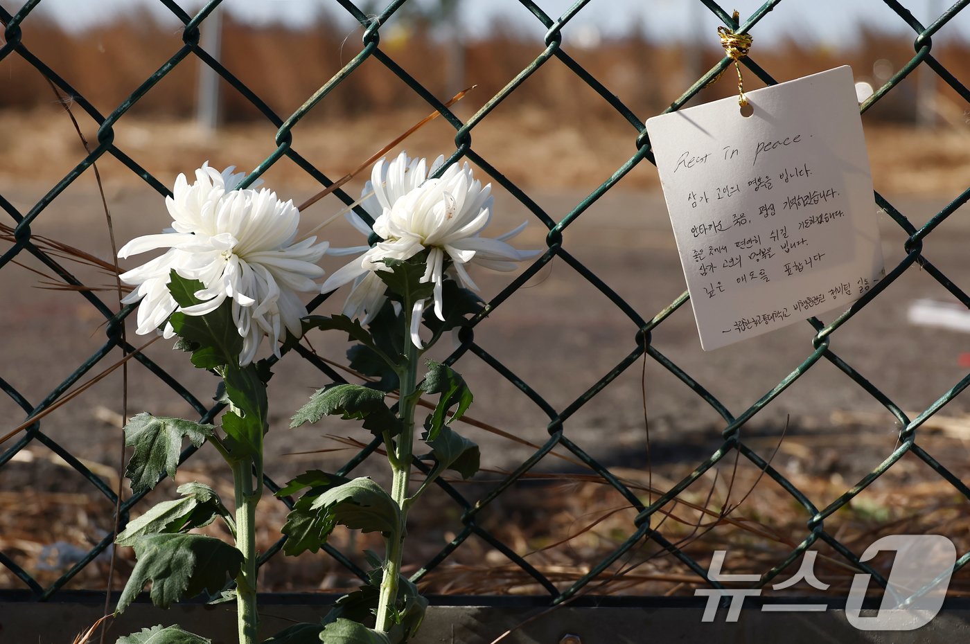
[[[150,508],[114,537],[119,546],[131,546],[146,534],[189,531],[204,528],[218,516],[228,516],[215,490],[204,483],[192,482],[178,487],[182,499],[166,500]]]

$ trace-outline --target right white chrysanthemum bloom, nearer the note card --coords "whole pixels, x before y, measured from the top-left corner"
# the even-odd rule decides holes
[[[381,260],[407,260],[428,250],[425,274],[421,281],[435,284],[435,314],[442,314],[442,284],[451,277],[463,287],[478,290],[466,265],[477,264],[495,271],[513,271],[516,262],[534,257],[541,251],[521,251],[507,240],[522,232],[526,223],[496,239],[481,237],[492,219],[491,184],[481,184],[472,176],[469,164],[452,165],[439,178],[427,178],[443,161],[438,157],[431,170],[425,159],[410,159],[402,152],[388,163],[378,161],[372,179],[364,187],[364,208],[374,216],[373,232],[383,239],[372,248],[362,246],[331,254],[361,252],[350,264],[332,274],[321,287],[328,293],[350,281],[353,289],[343,307],[349,317],[370,321],[384,303],[384,282],[377,271],[388,271]],[[365,235],[371,229],[356,214],[348,219]],[[421,346],[418,329],[427,302],[414,304],[411,311],[411,340]]]

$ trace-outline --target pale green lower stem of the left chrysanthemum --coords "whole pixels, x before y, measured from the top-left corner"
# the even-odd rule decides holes
[[[252,464],[236,461],[233,480],[236,484],[236,547],[242,553],[242,568],[236,577],[237,620],[240,644],[256,644],[259,615],[256,612],[256,503],[253,491]]]

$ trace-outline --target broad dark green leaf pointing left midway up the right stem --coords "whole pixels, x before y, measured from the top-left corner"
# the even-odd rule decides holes
[[[374,435],[382,435],[384,431],[398,435],[401,431],[401,421],[387,407],[383,392],[352,384],[332,384],[317,390],[294,414],[290,427],[336,415],[344,420],[364,419],[364,429]]]

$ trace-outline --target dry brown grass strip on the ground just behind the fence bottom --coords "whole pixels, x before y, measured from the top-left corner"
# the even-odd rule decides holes
[[[859,419],[843,419],[857,423]],[[864,419],[862,419],[864,420]],[[948,429],[949,428],[949,429]],[[846,434],[857,435],[860,426],[845,425]],[[749,441],[760,453],[769,455],[779,447],[773,465],[817,506],[836,499],[855,483],[855,474],[826,468],[819,458],[818,441],[813,436],[786,436]],[[830,444],[832,441],[827,441]],[[836,441],[837,442],[837,441]],[[936,419],[924,429],[921,446],[931,453],[965,451],[970,447],[970,421],[957,418]],[[866,448],[854,438],[858,452]],[[875,447],[875,446],[873,446]],[[28,452],[29,453],[29,452]],[[48,463],[34,461],[8,465],[8,476],[25,476],[27,467],[40,469],[64,467],[55,458]],[[694,464],[643,470],[617,469],[615,473],[641,500],[656,499]],[[46,474],[53,472],[46,471]],[[111,471],[99,472],[111,479]],[[966,477],[970,468],[954,471]],[[501,472],[483,472],[473,484],[453,481],[460,491],[474,499],[476,491],[489,481],[498,482]],[[209,483],[225,497],[232,494],[226,481],[207,471],[191,466],[179,470],[178,479]],[[470,486],[470,487],[469,487]],[[174,485],[163,483],[166,494]],[[857,499],[848,503],[825,521],[825,530],[842,543],[861,553],[880,536],[903,533],[941,533],[954,540],[958,552],[970,548],[970,514],[967,500],[934,472],[915,458],[906,457],[878,479]],[[81,548],[93,545],[92,534],[108,528],[105,501],[95,492],[40,491],[0,495],[0,550],[13,556],[28,568],[38,569],[38,580],[49,584],[61,570],[51,567],[56,558],[50,543],[73,544]],[[548,471],[527,475],[520,483],[486,508],[478,525],[524,557],[558,588],[566,589],[588,574],[610,555],[634,528],[636,511],[615,490],[589,470]],[[58,520],[51,522],[51,517]],[[457,506],[442,496],[432,495],[428,503],[415,509],[410,522],[408,572],[416,564],[431,559],[454,538],[458,527]],[[805,509],[758,468],[742,459],[735,465],[733,456],[711,470],[688,490],[655,515],[652,527],[695,558],[701,565],[710,562],[711,553],[728,551],[726,571],[764,573],[780,563],[808,535]],[[262,505],[257,530],[258,548],[268,549],[278,538],[285,521],[285,508],[267,499]],[[207,529],[222,538],[228,535],[217,528]],[[358,561],[364,548],[379,550],[379,538],[339,530],[332,543]],[[858,571],[824,543],[817,542],[819,552],[816,572],[830,585],[827,596],[844,597]],[[45,559],[47,557],[47,559]],[[358,561],[358,563],[361,563]],[[888,572],[891,561],[877,562]],[[48,566],[45,566],[48,564]],[[96,560],[70,587],[103,588],[107,575],[106,559]],[[116,587],[123,584],[134,566],[130,549],[119,552]],[[783,571],[773,583],[794,574],[797,562]],[[641,542],[617,563],[596,577],[584,592],[594,594],[693,595],[700,580],[683,563],[663,551],[656,543]],[[278,556],[261,573],[265,591],[341,592],[353,588],[355,578],[329,557],[304,554],[289,558]],[[0,587],[16,587],[18,582],[7,572],[0,572]],[[535,595],[544,591],[523,569],[506,559],[484,540],[470,537],[455,553],[433,570],[422,586],[426,592],[439,594]],[[793,592],[817,593],[799,585]],[[970,578],[958,572],[950,587],[951,596],[970,595]]]

